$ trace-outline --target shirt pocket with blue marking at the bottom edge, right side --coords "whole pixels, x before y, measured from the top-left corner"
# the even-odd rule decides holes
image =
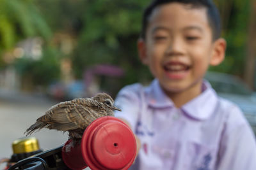
[[[216,160],[216,149],[202,143],[188,143],[188,160],[193,170],[213,170]]]

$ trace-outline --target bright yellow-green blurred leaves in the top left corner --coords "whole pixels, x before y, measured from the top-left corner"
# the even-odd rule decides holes
[[[51,38],[51,30],[32,1],[0,1],[0,48],[10,50],[20,39]],[[2,51],[3,52],[3,51]]]

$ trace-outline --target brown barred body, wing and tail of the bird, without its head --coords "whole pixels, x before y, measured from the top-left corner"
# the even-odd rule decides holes
[[[59,131],[85,129],[93,120],[105,115],[107,113],[102,103],[90,98],[74,99],[52,106],[26,130],[25,134],[29,135],[44,127]]]

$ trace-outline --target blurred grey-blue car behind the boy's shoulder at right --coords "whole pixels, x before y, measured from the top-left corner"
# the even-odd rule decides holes
[[[205,80],[211,83],[220,97],[236,103],[241,108],[256,134],[256,92],[231,74],[207,72]]]

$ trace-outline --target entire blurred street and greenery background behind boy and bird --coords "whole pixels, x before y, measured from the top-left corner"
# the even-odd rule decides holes
[[[152,80],[136,41],[148,0],[0,1],[0,159],[50,106]],[[256,1],[215,0],[227,56],[205,78],[256,126]],[[35,134],[43,149],[67,134]]]

